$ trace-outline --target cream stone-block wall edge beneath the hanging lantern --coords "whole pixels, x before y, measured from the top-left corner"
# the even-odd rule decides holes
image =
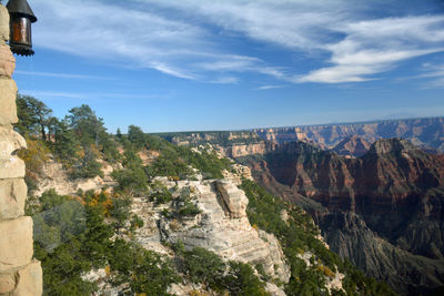
[[[42,269],[32,259],[32,218],[23,216],[24,163],[16,153],[27,143],[11,125],[18,121],[17,85],[8,39],[9,13],[0,4],[0,295],[33,296],[42,294]]]

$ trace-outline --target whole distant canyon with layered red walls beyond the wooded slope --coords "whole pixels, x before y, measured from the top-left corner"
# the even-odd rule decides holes
[[[206,144],[307,211],[332,251],[369,276],[403,295],[444,286],[444,118],[249,132]],[[196,142],[182,136],[175,143]]]

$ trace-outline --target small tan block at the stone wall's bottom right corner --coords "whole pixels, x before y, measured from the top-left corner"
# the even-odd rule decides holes
[[[18,271],[17,288],[13,296],[39,296],[43,293],[42,269],[40,262],[34,261]]]

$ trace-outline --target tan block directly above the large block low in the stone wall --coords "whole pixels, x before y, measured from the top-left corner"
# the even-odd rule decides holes
[[[0,181],[0,221],[24,215],[27,184],[22,178]]]

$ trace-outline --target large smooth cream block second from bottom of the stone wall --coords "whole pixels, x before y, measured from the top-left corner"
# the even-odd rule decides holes
[[[32,218],[0,222],[0,273],[28,265],[33,254]]]

